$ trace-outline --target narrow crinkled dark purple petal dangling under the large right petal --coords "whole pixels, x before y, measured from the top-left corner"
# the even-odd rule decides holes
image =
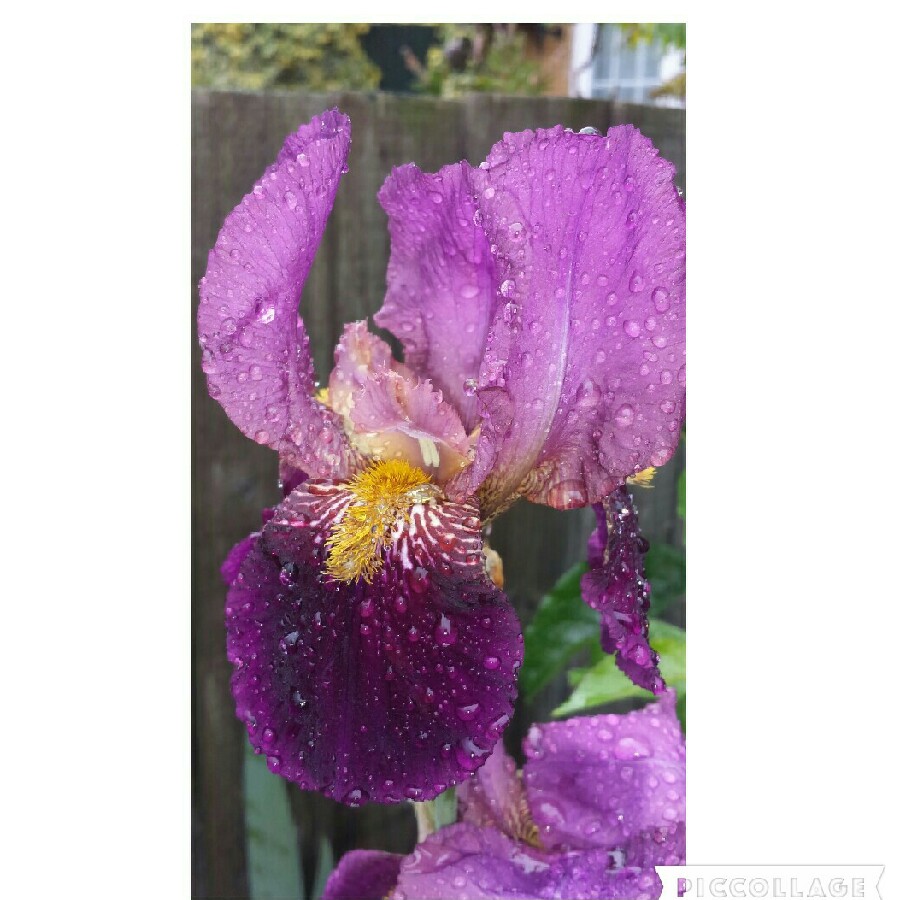
[[[597,529],[588,539],[588,570],[581,595],[600,612],[600,643],[615,653],[616,665],[636,684],[654,694],[666,689],[659,656],[648,639],[650,585],[644,579],[647,541],[638,528],[637,510],[628,489],[617,488],[594,507]]]

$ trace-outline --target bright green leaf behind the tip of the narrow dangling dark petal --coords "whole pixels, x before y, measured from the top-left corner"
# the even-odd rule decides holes
[[[681,696],[685,689],[685,640],[684,631],[676,625],[670,625],[659,619],[650,620],[650,643],[659,653],[659,669],[666,684],[674,688]],[[576,713],[611,703],[613,700],[624,700],[628,697],[644,697],[651,695],[643,688],[632,684],[616,666],[613,655],[603,658],[587,669],[574,669],[569,673],[569,682],[574,690],[572,695],[553,710],[555,718],[571,716]]]

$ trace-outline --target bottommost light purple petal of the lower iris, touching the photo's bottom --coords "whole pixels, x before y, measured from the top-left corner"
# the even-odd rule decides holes
[[[391,900],[652,900],[652,869],[616,868],[603,850],[545,853],[466,823],[430,835],[400,866]]]

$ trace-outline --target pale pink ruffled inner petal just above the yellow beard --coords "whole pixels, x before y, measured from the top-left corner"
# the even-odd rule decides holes
[[[353,445],[366,456],[405,459],[444,484],[468,464],[469,437],[441,392],[397,372],[371,378],[350,413]]]

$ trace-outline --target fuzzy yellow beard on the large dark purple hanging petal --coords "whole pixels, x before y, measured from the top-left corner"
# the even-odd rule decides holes
[[[346,485],[354,500],[326,541],[325,570],[339,581],[371,582],[384,565],[382,548],[416,503],[441,493],[421,469],[403,459],[373,463]]]

